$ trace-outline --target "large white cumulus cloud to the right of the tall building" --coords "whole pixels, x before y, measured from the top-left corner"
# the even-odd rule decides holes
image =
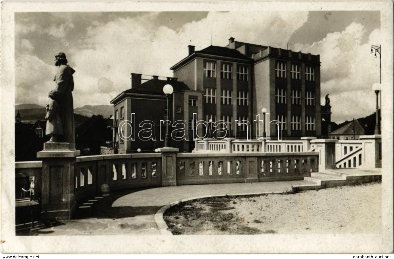
[[[379,61],[374,59],[370,49],[379,38],[379,30],[372,31],[368,42],[361,44],[365,33],[362,24],[353,22],[343,31],[328,33],[318,42],[295,46],[304,52],[320,54],[322,103],[325,94],[329,93],[333,121],[374,112],[371,88],[379,82]]]

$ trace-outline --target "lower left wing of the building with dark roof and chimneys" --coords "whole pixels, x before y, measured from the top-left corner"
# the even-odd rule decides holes
[[[169,133],[174,134],[171,135],[171,147],[177,147],[181,152],[193,150],[194,141],[189,138],[192,134],[190,125],[193,113],[198,114],[197,120],[203,119],[203,107],[199,105],[203,101],[203,92],[190,90],[175,77],[163,79],[153,75],[142,83],[142,75],[132,73],[131,88],[111,101],[115,153],[154,152],[164,146],[166,125],[160,121],[165,121],[167,114],[167,97],[163,92],[166,84],[173,87],[173,94],[169,96],[168,118],[171,122]],[[182,123],[174,126],[176,121]],[[188,125],[187,128],[184,125]]]

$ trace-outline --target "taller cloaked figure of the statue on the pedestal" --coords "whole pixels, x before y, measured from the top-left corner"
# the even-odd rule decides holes
[[[74,129],[74,104],[72,101],[72,90],[74,90],[74,78],[72,74],[75,72],[67,65],[66,55],[59,52],[55,55],[55,66],[58,66],[58,72],[54,81],[59,92],[58,104],[60,107],[60,119],[63,124],[63,142],[75,142]]]

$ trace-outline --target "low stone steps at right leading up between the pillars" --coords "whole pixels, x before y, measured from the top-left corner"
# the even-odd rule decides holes
[[[327,187],[346,186],[353,184],[363,184],[381,180],[381,173],[375,171],[360,171],[355,169],[333,169],[321,173],[310,173],[310,176],[304,177],[304,181],[310,182],[310,185],[303,184],[298,187],[302,190],[322,189]]]

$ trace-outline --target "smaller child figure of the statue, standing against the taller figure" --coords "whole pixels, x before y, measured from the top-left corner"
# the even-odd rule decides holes
[[[46,129],[45,134],[51,135],[48,142],[59,142],[60,137],[63,136],[63,124],[60,118],[60,107],[58,100],[60,98],[60,92],[57,90],[51,90],[48,93],[48,103],[46,104],[45,119]]]

